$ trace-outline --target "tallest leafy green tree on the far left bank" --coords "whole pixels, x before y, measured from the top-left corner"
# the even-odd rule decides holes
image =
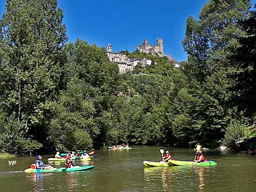
[[[57,0],[8,0],[5,10],[0,22],[0,107],[33,131],[59,89],[67,41],[63,13]],[[41,130],[36,132],[40,136]]]

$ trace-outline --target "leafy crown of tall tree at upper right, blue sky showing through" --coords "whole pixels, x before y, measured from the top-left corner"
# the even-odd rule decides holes
[[[227,65],[227,58],[245,36],[240,20],[248,18],[250,0],[210,0],[201,9],[199,20],[189,16],[182,41],[194,73],[201,79]]]

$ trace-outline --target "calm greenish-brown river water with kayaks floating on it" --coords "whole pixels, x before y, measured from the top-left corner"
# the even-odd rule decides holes
[[[95,151],[95,168],[85,172],[27,174],[35,157],[0,159],[0,191],[256,191],[256,157],[235,152],[205,151],[216,167],[144,168],[143,160],[159,161],[160,147]],[[165,147],[174,159],[193,160],[195,151]],[[53,155],[43,156],[47,159]],[[8,160],[16,164],[9,166]],[[78,165],[83,165],[78,162]],[[54,166],[64,166],[55,163]]]

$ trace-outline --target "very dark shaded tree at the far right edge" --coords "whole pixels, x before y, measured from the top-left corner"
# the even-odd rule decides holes
[[[254,5],[256,9],[256,4]],[[256,115],[254,108],[256,104],[256,10],[251,11],[250,17],[241,25],[246,36],[239,39],[241,47],[230,59],[233,66],[237,66],[240,72],[232,78],[237,79],[237,86],[234,88],[238,94],[234,101],[238,103],[241,110],[245,110],[250,117]],[[255,116],[256,117],[256,116]],[[252,120],[255,122],[255,117]]]

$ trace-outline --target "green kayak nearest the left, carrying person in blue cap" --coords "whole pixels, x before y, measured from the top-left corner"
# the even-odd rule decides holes
[[[59,168],[54,168],[54,169],[34,169],[34,168],[27,168],[24,170],[26,173],[41,173],[41,172],[78,172],[86,169],[93,168],[95,165],[88,165],[88,166],[74,166],[71,168],[66,168],[66,167],[59,167]]]

